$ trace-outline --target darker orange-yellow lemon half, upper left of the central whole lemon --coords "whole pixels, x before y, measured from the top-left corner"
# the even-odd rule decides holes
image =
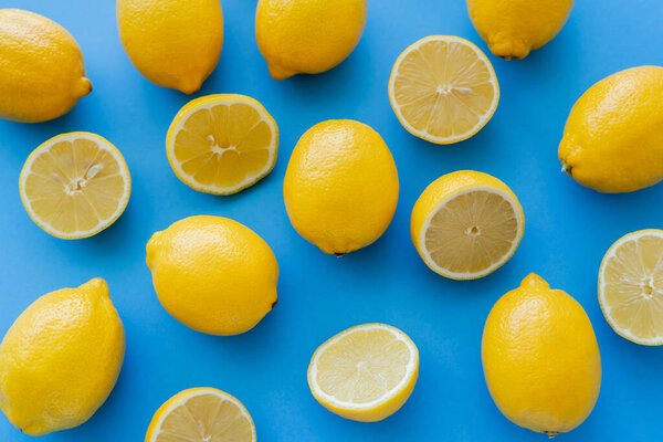
[[[276,162],[278,128],[255,99],[208,95],[189,102],[168,129],[175,175],[201,192],[231,194],[266,176]]]

